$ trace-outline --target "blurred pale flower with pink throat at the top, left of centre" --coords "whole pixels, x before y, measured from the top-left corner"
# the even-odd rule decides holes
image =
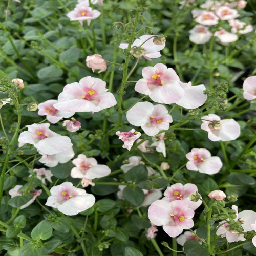
[[[87,25],[90,26],[91,20],[98,18],[100,15],[99,11],[93,10],[86,2],[87,1],[77,4],[75,9],[67,14],[72,22],[77,20],[81,26],[84,20],[86,20]]]

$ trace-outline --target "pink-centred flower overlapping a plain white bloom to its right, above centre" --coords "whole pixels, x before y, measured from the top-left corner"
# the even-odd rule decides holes
[[[161,63],[154,67],[145,67],[142,76],[143,78],[135,84],[135,91],[149,95],[157,103],[172,104],[185,94],[176,72]]]

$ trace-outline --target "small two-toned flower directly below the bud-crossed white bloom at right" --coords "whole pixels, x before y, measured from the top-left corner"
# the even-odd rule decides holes
[[[193,148],[186,158],[189,160],[186,164],[188,170],[198,170],[203,174],[217,174],[222,167],[221,159],[212,157],[205,148]]]

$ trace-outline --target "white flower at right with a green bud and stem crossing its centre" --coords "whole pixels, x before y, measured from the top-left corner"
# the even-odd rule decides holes
[[[209,114],[203,116],[201,120],[203,121],[201,129],[208,132],[208,139],[211,141],[230,141],[240,136],[240,126],[234,119],[221,120],[219,116]],[[219,122],[212,127],[212,121]]]

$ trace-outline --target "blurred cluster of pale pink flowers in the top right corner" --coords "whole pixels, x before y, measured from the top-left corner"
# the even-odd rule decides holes
[[[245,8],[247,2],[240,1],[215,1],[207,0],[201,5],[202,9],[194,9],[192,11],[195,22],[200,25],[196,25],[189,31],[189,39],[195,44],[205,44],[208,42],[214,31],[214,36],[222,44],[229,44],[238,39],[238,34],[246,34],[253,31],[253,27],[250,24],[246,24],[237,19],[240,14],[239,9]],[[236,9],[235,9],[236,8]],[[223,27],[226,27],[225,21],[228,22],[231,27],[231,33],[226,31]],[[214,26],[212,32],[209,30],[210,26]]]

